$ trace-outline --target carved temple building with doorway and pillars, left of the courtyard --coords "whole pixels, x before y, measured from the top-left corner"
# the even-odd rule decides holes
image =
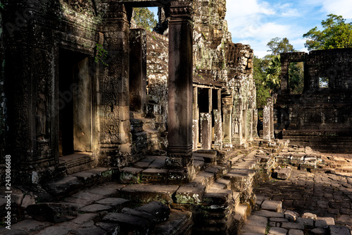
[[[132,9],[144,6],[160,8],[164,36],[131,27]],[[231,42],[225,0],[5,8],[1,149],[15,182],[46,182],[83,163],[118,169],[146,154],[165,155],[165,167],[187,181],[192,151],[257,136],[253,51]]]

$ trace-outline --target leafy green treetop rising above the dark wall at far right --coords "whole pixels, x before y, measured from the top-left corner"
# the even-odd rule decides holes
[[[345,23],[341,15],[329,14],[327,20],[322,20],[324,30],[314,27],[303,37],[306,38],[306,48],[309,51],[322,49],[337,49],[352,47],[352,23]]]

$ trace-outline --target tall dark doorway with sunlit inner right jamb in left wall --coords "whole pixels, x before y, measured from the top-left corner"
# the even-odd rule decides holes
[[[83,53],[58,53],[58,153],[92,151],[92,73]]]

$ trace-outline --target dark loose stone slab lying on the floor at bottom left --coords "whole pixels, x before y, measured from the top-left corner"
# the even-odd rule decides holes
[[[28,215],[35,220],[53,223],[73,220],[77,217],[76,208],[65,203],[41,203],[27,206]]]

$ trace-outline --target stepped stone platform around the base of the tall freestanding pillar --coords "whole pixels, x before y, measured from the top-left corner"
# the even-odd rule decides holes
[[[172,209],[192,213],[194,234],[240,234],[256,205],[253,188],[275,167],[272,152],[253,146],[239,151],[196,151],[196,177],[189,184],[172,185],[165,157],[147,156],[120,170],[120,183],[129,184],[118,196],[137,203],[161,201]],[[263,150],[260,150],[263,148]]]

